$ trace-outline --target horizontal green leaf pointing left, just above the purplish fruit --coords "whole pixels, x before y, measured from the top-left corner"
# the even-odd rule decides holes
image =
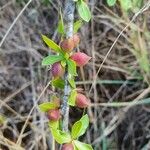
[[[55,62],[63,60],[64,57],[62,55],[49,55],[42,60],[42,66],[52,65]]]

